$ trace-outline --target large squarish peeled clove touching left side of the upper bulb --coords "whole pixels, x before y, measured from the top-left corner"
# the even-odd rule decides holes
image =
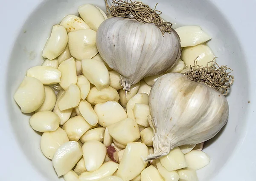
[[[96,31],[79,30],[68,34],[68,47],[72,57],[78,60],[90,59],[98,53]]]

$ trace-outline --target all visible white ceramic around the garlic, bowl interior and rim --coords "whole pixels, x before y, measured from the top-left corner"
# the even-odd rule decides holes
[[[208,45],[220,65],[233,68],[235,83],[227,97],[227,125],[206,144],[209,166],[200,181],[253,181],[256,171],[254,44],[256,1],[143,0],[177,25],[200,25],[212,36]],[[57,181],[51,161],[40,150],[40,134],[29,126],[13,97],[28,68],[42,62],[42,49],[52,25],[77,14],[84,3],[104,8],[103,0],[0,0],[0,181]],[[250,103],[248,103],[250,101]],[[62,178],[61,178],[62,179]],[[61,180],[60,179],[60,180]]]

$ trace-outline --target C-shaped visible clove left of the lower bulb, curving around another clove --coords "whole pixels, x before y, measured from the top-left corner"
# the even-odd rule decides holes
[[[134,106],[136,103],[148,105],[148,94],[146,93],[137,93],[133,96],[126,105],[126,111],[128,118],[135,120],[134,116]]]

